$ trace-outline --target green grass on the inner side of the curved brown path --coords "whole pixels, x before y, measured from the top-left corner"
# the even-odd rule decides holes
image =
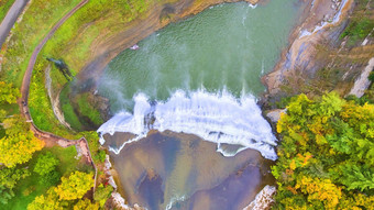
[[[131,1],[89,1],[84,8],[79,9],[70,16],[46,43],[38,59],[36,60],[30,89],[30,110],[35,124],[44,130],[66,136],[69,132],[61,126],[51,110],[51,102],[46,97],[44,88],[44,69],[50,65],[41,56],[62,58],[69,66],[73,75],[76,75],[89,58],[90,46],[95,38],[105,33],[111,35],[134,20],[145,14],[150,10],[153,1],[131,0]],[[51,73],[52,87],[55,90],[62,89],[67,80],[62,74],[53,68]],[[80,130],[81,123],[75,114],[72,104],[67,101],[67,92],[64,90],[62,98],[62,109],[65,111],[65,120],[75,130]],[[32,102],[34,101],[34,102]],[[90,106],[85,98],[77,101],[81,114],[89,118],[91,122],[99,125],[102,123],[100,113]]]

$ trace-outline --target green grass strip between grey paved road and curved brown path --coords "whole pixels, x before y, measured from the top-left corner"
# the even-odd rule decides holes
[[[4,54],[4,57],[1,80],[21,87],[29,58],[38,42],[78,2],[79,0],[32,1],[23,20],[14,25],[13,36],[8,46],[2,48],[1,54]]]

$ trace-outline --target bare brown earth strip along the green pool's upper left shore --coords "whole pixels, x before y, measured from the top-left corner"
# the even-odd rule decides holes
[[[97,37],[90,46],[90,57],[77,77],[80,81],[96,81],[102,74],[105,67],[121,52],[169,23],[195,15],[216,4],[239,1],[246,1],[252,5],[258,3],[258,0],[179,0],[175,3],[156,5],[146,14],[146,18],[132,21],[123,31],[119,31],[111,36],[101,34]],[[77,86],[79,87],[79,85]]]

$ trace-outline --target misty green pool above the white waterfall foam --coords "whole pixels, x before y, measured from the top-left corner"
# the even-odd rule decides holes
[[[273,0],[255,9],[221,4],[173,23],[140,42],[140,49],[117,56],[99,93],[110,99],[113,112],[132,110],[139,92],[151,100],[166,100],[177,89],[257,96],[265,90],[260,78],[276,64],[296,23],[296,2]]]

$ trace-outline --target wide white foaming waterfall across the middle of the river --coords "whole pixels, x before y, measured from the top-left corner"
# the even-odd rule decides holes
[[[98,130],[101,136],[113,135],[116,132],[136,135],[119,148],[111,148],[117,154],[125,144],[146,136],[150,130],[161,132],[169,130],[198,135],[217,143],[218,150],[222,143],[241,145],[238,152],[253,148],[261,152],[265,158],[277,158],[274,151],[277,140],[251,95],[237,99],[227,91],[209,93],[199,90],[187,96],[186,92],[177,90],[164,102],[151,104],[143,93],[136,95],[133,99],[135,102],[133,113],[120,112]]]

